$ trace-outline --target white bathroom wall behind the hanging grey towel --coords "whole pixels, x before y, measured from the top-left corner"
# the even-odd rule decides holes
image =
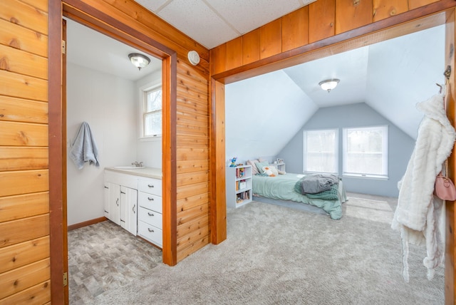
[[[103,168],[136,159],[135,83],[67,63],[67,150],[83,121],[98,146],[100,167],[78,170],[68,157],[68,224],[103,217]]]

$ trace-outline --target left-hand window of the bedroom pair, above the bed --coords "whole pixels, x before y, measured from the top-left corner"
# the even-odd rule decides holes
[[[304,130],[304,172],[338,173],[338,130]]]

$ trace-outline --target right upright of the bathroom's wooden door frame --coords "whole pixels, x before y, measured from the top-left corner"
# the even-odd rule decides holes
[[[177,264],[177,54],[163,60],[162,210],[163,263]]]

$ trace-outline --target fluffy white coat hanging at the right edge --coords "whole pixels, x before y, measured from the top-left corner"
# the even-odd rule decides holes
[[[434,269],[445,254],[444,233],[440,214],[443,202],[433,196],[435,177],[442,163],[452,152],[456,139],[455,129],[447,118],[444,95],[435,95],[418,103],[424,113],[418,129],[415,148],[398,183],[399,197],[391,227],[400,231],[403,246],[403,277],[408,281],[408,243],[425,244],[427,278],[432,279]]]

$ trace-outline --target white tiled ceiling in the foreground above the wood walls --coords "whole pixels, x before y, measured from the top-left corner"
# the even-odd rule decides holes
[[[210,49],[316,0],[135,1]]]

